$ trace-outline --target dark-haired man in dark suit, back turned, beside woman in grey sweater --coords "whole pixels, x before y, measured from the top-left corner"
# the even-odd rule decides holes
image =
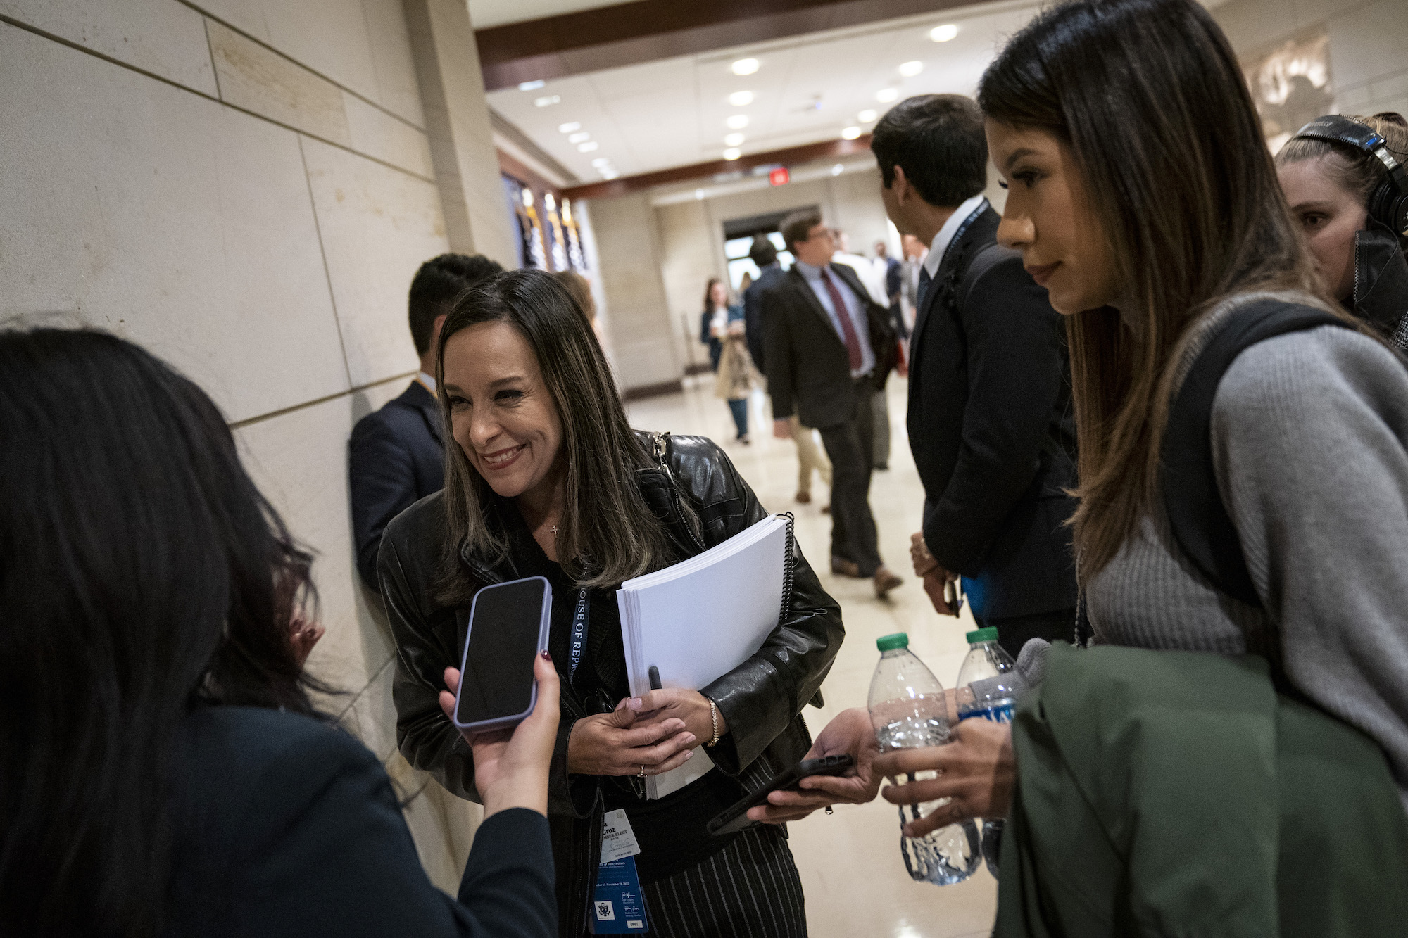
[[[910,338],[907,423],[925,493],[915,573],[952,615],[962,576],[974,618],[1014,656],[1028,638],[1070,638],[1070,363],[1046,290],[997,245],[983,114],[959,94],[911,97],[870,148],[890,220],[929,244]]]

